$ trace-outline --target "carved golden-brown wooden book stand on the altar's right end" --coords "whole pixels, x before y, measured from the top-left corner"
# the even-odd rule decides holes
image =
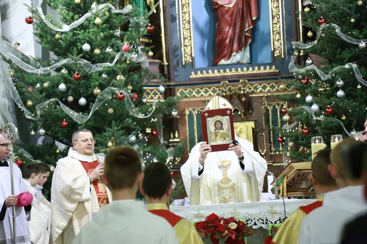
[[[316,196],[313,189],[311,175],[311,162],[289,163],[278,177],[279,194],[283,197]],[[272,183],[273,186],[275,182]]]

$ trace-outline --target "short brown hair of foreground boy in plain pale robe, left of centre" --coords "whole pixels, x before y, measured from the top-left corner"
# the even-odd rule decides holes
[[[104,174],[111,189],[133,187],[139,173],[141,173],[141,160],[134,148],[118,146],[107,154]]]

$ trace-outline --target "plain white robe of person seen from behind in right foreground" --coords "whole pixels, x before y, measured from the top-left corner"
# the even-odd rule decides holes
[[[302,221],[298,244],[339,244],[344,224],[365,210],[363,185],[325,193],[322,206]]]

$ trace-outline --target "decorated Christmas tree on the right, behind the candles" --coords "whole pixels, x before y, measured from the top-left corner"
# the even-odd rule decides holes
[[[344,138],[364,130],[367,96],[367,9],[365,0],[303,1],[301,21],[307,34],[293,42],[286,81],[297,92],[280,98],[283,121],[278,142],[295,160],[311,160],[311,138],[330,146],[332,135]],[[302,61],[302,57],[306,57]],[[358,133],[357,133],[358,134]]]

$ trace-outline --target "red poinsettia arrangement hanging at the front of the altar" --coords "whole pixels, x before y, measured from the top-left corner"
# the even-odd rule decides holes
[[[205,235],[207,238],[210,234],[210,241],[214,244],[225,240],[227,235],[226,244],[245,244],[246,236],[252,235],[252,227],[244,222],[235,220],[234,217],[219,218],[214,213],[208,215],[205,221],[196,223],[195,227],[201,236]]]

